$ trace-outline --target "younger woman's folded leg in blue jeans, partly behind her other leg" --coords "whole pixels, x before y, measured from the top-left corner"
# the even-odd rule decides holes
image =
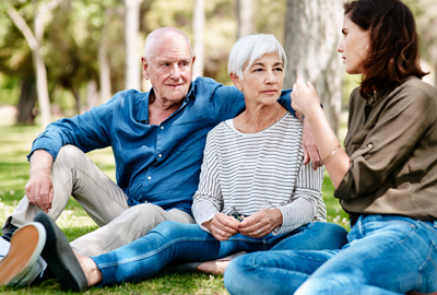
[[[265,251],[232,260],[224,274],[231,294],[293,294],[339,250]]]

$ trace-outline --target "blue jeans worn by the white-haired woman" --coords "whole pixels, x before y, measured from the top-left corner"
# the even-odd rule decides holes
[[[347,232],[335,224],[315,222],[292,233],[252,238],[240,234],[220,241],[197,224],[167,221],[145,236],[114,251],[92,257],[103,275],[102,285],[145,280],[168,263],[209,261],[239,251],[275,249],[339,249]]]

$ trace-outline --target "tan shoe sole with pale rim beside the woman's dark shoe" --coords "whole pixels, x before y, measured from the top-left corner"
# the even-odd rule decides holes
[[[29,223],[12,235],[11,248],[0,261],[0,285],[20,283],[36,263],[46,243],[46,231],[39,223]]]

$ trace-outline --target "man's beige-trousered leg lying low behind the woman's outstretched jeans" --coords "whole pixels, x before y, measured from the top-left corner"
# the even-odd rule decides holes
[[[154,204],[138,204],[123,211],[107,225],[79,237],[70,245],[74,251],[83,256],[103,255],[144,236],[164,221],[194,223],[188,213],[178,209],[167,212]]]

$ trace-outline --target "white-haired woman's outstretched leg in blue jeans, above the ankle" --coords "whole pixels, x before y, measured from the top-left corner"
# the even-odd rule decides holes
[[[149,279],[174,260],[226,257],[238,247],[238,243],[218,241],[197,224],[168,221],[133,243],[92,259],[102,272],[102,285],[108,285]]]

